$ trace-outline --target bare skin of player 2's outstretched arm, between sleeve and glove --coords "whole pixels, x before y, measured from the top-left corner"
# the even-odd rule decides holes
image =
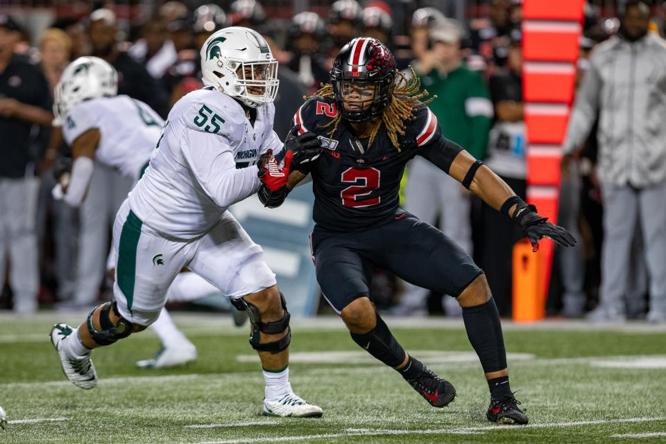
[[[453,163],[451,163],[449,175],[462,183],[465,175],[476,160],[465,150],[459,152]],[[470,191],[481,197],[486,204],[492,206],[497,211],[506,202],[506,199],[515,195],[511,187],[485,165],[481,166],[475,173],[472,184],[470,184]],[[515,205],[509,209],[509,217],[513,215],[514,210]]]

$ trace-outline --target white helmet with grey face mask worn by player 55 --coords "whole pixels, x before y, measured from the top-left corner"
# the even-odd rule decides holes
[[[250,108],[271,103],[278,94],[278,61],[257,31],[230,26],[201,47],[203,83]]]

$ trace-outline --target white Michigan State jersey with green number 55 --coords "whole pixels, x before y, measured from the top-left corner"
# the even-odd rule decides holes
[[[253,195],[259,156],[282,142],[273,131],[275,106],[256,109],[252,123],[234,99],[212,88],[193,91],[169,113],[130,208],[148,227],[192,239],[220,221],[228,206]]]

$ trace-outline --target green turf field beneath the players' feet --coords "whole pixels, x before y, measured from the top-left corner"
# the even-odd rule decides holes
[[[10,423],[0,431],[1,444],[666,442],[664,366],[591,365],[599,359],[635,355],[666,359],[663,329],[507,329],[507,349],[533,355],[510,360],[511,387],[521,389],[517,397],[530,424],[543,427],[498,427],[485,419],[488,389],[477,362],[440,359],[429,365],[453,382],[459,393],[456,402],[443,410],[429,407],[395,371],[379,363],[294,362],[290,366],[293,388],[321,405],[323,418],[264,418],[259,415],[263,395],[259,364],[243,359],[252,355],[246,329],[216,328],[208,318],[205,322],[186,319],[182,325],[198,348],[198,361],[155,371],[139,371],[134,363],[153,355],[159,342],[151,332],[133,335],[96,350],[99,386],[83,391],[60,371],[46,338],[49,321],[9,319],[0,320],[0,405],[9,420],[66,420]],[[450,324],[436,329],[395,328],[394,332],[407,350],[471,351],[464,329]],[[345,330],[299,329],[296,323],[291,350],[323,357],[327,350],[360,349]],[[628,418],[649,420],[621,422]],[[184,427],[259,421],[266,424]],[[566,424],[588,421],[597,423]],[[644,433],[663,435],[613,437]]]

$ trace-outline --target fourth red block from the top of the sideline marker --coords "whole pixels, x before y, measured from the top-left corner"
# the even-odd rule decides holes
[[[529,143],[561,145],[567,131],[569,107],[526,103],[524,118]]]

